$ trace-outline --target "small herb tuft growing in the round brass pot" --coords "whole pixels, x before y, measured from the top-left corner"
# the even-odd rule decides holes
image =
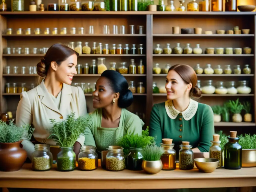
[[[143,160],[145,161],[158,161],[163,153],[164,149],[156,145],[148,145],[141,151]]]

